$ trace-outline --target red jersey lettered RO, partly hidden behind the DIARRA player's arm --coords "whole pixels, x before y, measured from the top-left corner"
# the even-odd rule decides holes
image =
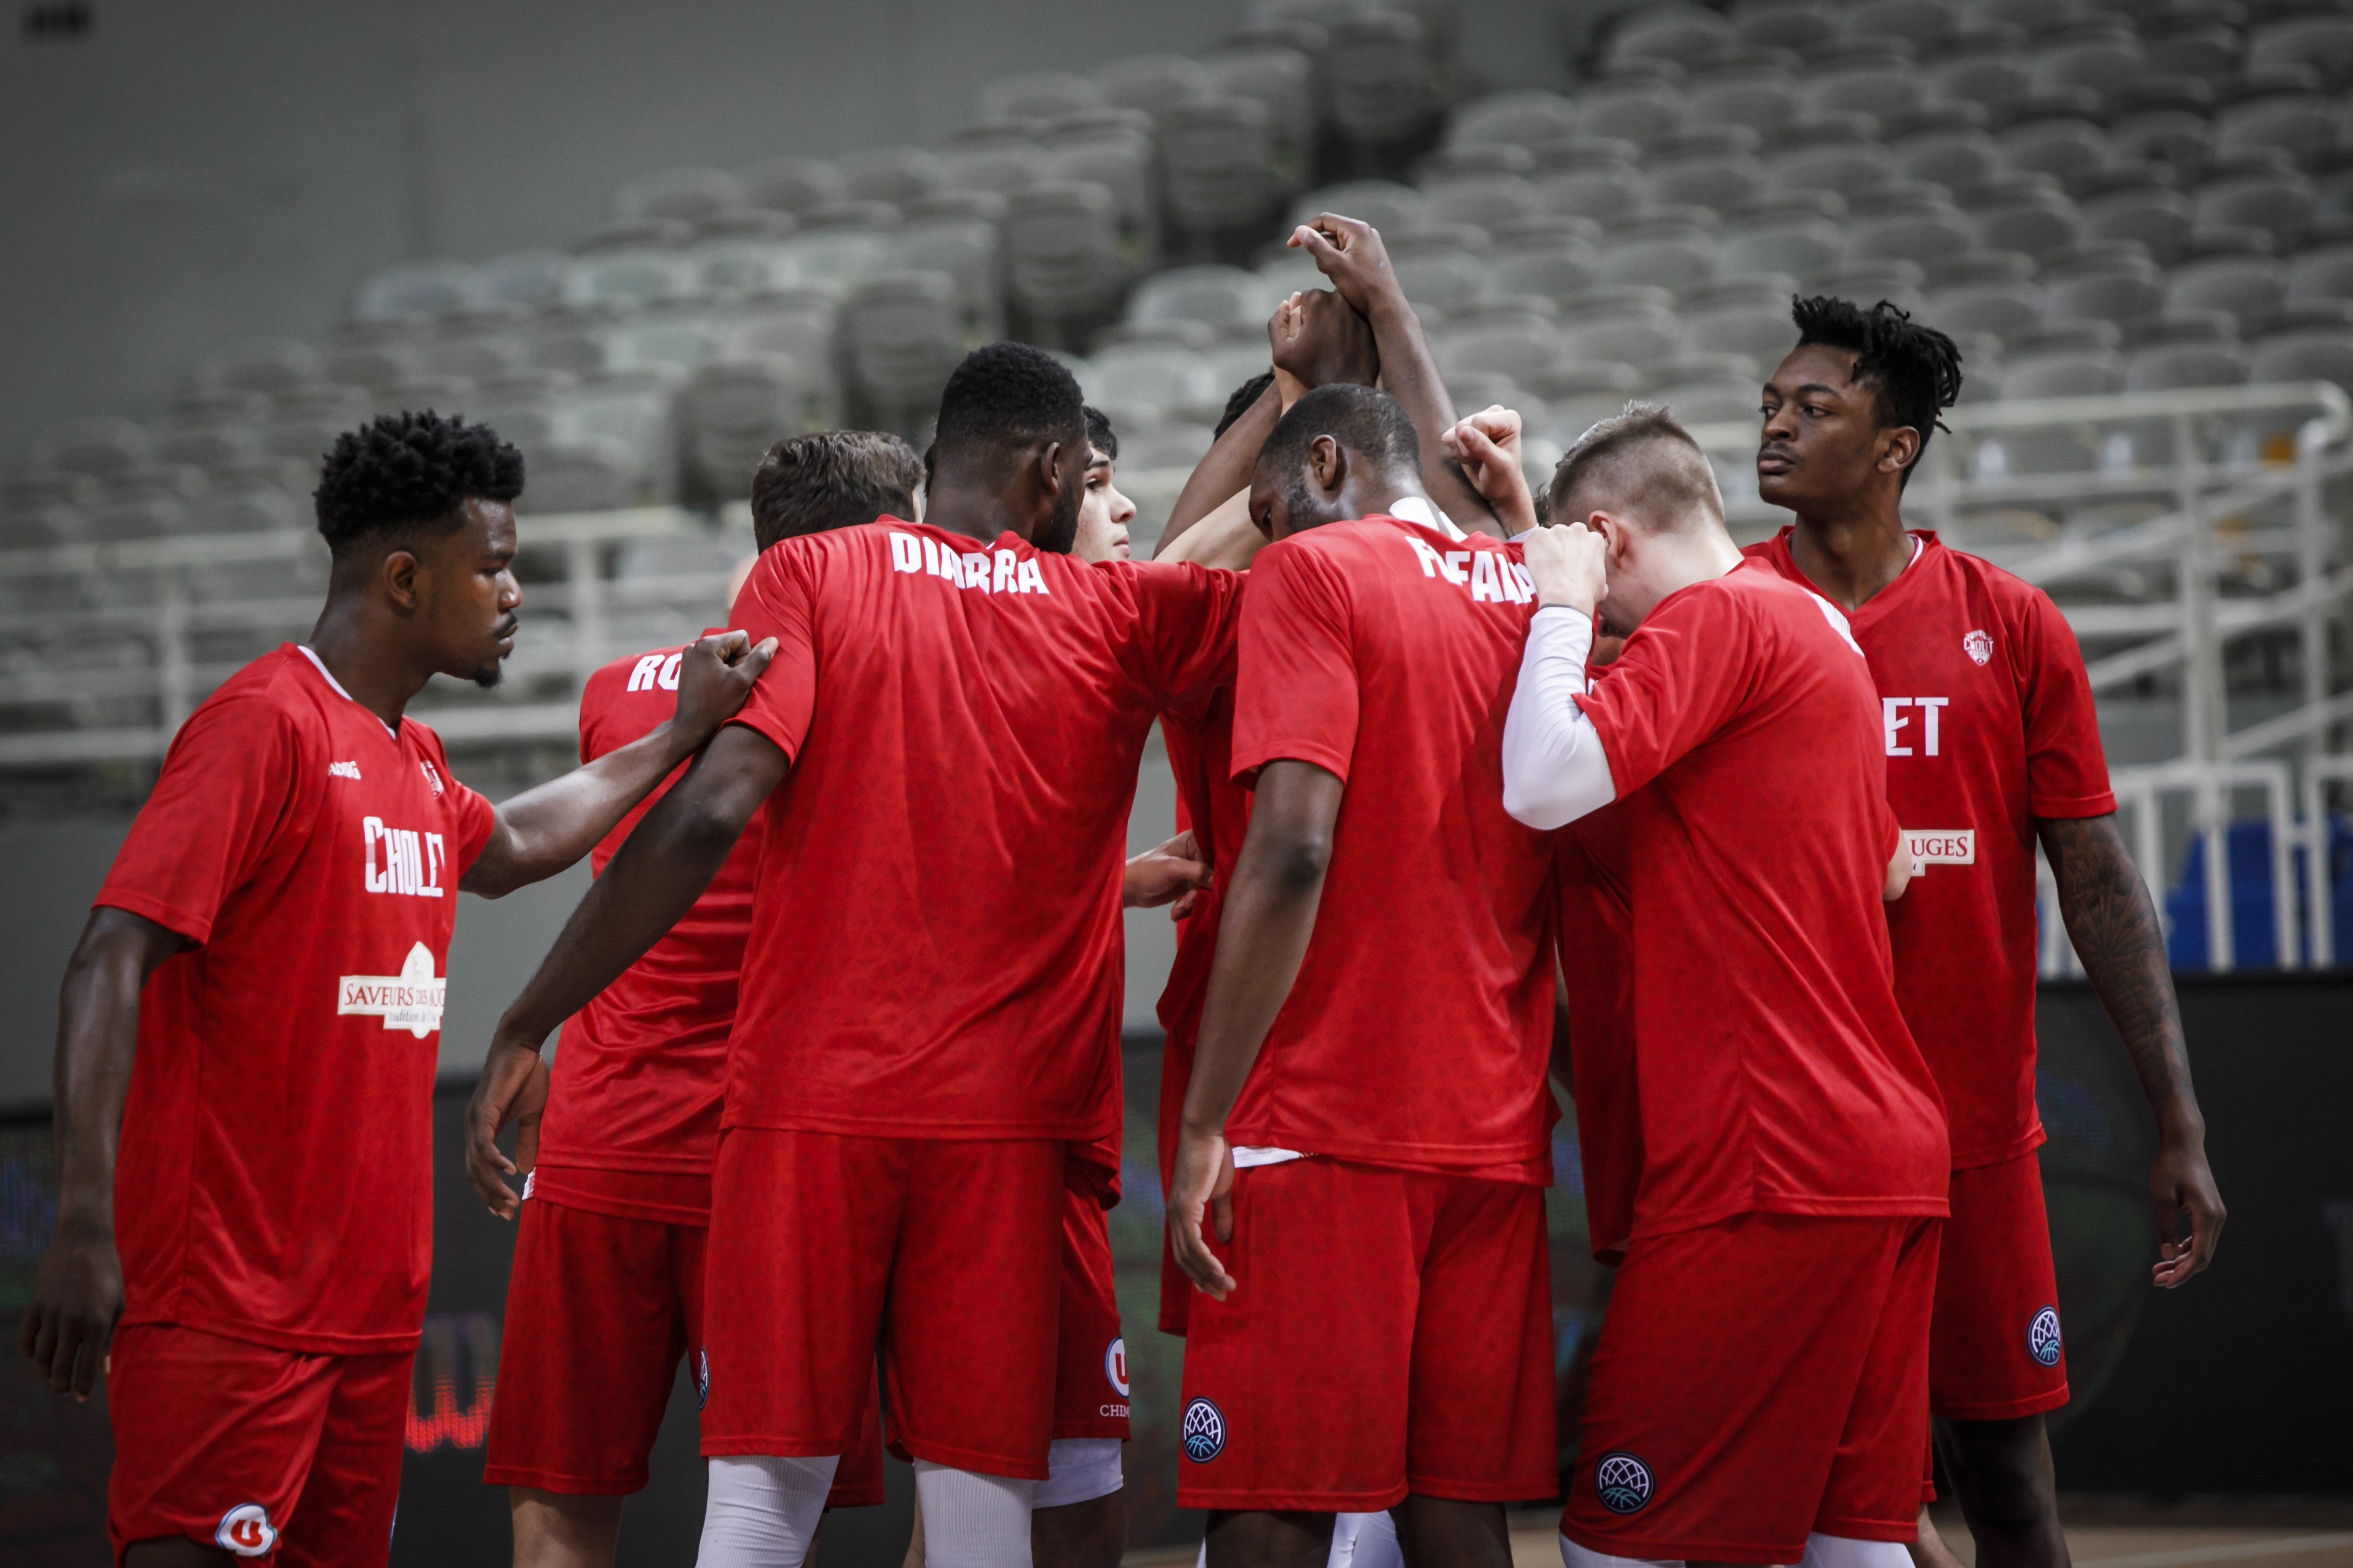
[[[682,658],[685,649],[654,649],[616,658],[588,677],[581,689],[581,762],[642,741],[678,710]],[[680,773],[685,764],[605,835],[588,853],[591,870],[605,872]],[[765,832],[767,818],[753,816],[718,877],[668,936],[565,1020],[539,1131],[539,1166],[532,1171],[534,1194],[640,1220],[701,1225],[711,1218],[727,1032],[734,1027]],[[692,1180],[614,1182],[574,1175],[574,1168]]]

